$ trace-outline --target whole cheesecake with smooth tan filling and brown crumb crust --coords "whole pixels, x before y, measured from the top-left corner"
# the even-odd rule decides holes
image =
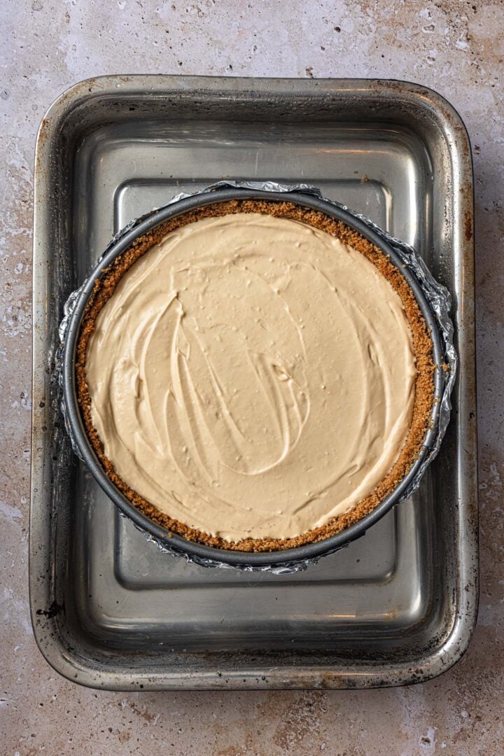
[[[431,339],[387,256],[328,215],[233,200],[97,281],[79,404],[107,476],[185,538],[268,551],[361,519],[422,448]]]

